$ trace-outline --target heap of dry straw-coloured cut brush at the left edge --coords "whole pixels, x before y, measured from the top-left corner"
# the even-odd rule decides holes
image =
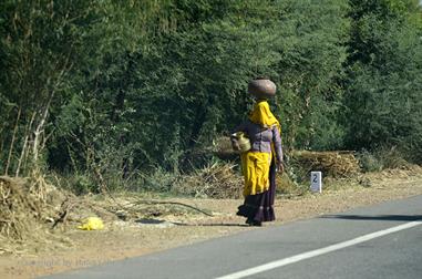
[[[41,175],[0,176],[0,254],[22,252],[35,242],[63,242],[49,230],[63,198]]]

